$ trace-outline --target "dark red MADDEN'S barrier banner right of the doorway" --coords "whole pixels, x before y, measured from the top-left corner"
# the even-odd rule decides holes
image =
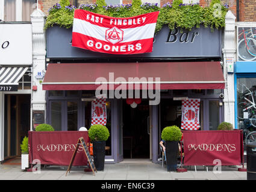
[[[242,163],[241,130],[183,131],[184,165],[219,166]],[[220,161],[219,161],[220,160]]]

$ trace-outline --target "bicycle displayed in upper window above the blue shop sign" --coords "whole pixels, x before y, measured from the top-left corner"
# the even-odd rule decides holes
[[[241,38],[242,37],[242,38]],[[239,34],[239,43],[237,47],[239,58],[244,61],[253,61],[256,59],[256,28],[245,30]]]

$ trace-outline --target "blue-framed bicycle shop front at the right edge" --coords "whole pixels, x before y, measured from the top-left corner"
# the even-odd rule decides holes
[[[243,130],[244,143],[255,139],[256,52],[255,23],[237,23],[237,62],[234,68],[236,127]],[[252,134],[250,134],[252,133]]]

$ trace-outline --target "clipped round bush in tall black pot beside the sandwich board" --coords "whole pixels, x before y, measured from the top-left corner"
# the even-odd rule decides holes
[[[105,141],[110,136],[108,128],[104,125],[92,125],[88,131],[90,141],[93,143],[93,162],[97,170],[104,170]]]

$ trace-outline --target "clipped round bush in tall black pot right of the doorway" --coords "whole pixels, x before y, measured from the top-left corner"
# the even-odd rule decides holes
[[[166,167],[168,172],[176,171],[181,136],[181,130],[176,125],[165,127],[161,133],[161,138],[166,142]]]

